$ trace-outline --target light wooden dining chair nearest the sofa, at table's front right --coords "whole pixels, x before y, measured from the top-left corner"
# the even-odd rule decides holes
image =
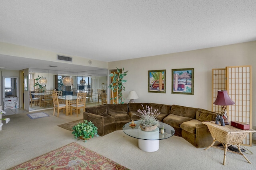
[[[77,99],[76,104],[70,105],[70,110],[72,115],[73,109],[76,110],[76,117],[78,117],[78,113],[80,113],[80,109],[83,109],[85,111],[85,103],[86,103],[86,93],[77,93]]]

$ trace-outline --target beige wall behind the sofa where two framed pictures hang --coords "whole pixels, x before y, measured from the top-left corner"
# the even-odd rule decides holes
[[[177,104],[211,110],[212,106],[212,68],[226,66],[252,65],[256,72],[256,41],[172,53],[139,59],[115,61],[108,63],[108,69],[123,68],[128,70],[123,92],[127,98],[130,90],[139,96],[135,102],[154,102],[161,104]],[[194,68],[194,95],[171,93],[171,71],[176,68]],[[148,93],[148,70],[166,70],[166,93]],[[252,74],[253,82],[256,74]],[[256,84],[252,84],[256,89]],[[255,92],[253,93],[255,94]],[[256,95],[252,96],[253,126],[256,125]],[[128,103],[129,100],[124,100]]]

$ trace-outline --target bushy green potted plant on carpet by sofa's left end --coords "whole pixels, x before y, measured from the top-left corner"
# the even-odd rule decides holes
[[[79,122],[72,127],[72,130],[72,134],[74,135],[75,139],[79,138],[85,140],[85,142],[86,140],[93,138],[94,135],[98,137],[98,128],[88,120],[84,120],[82,123]]]

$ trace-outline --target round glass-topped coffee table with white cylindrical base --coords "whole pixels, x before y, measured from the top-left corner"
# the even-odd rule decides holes
[[[139,148],[146,152],[155,152],[159,149],[159,140],[172,137],[175,133],[173,127],[166,123],[160,123],[160,128],[164,126],[164,134],[161,133],[161,129],[158,127],[154,131],[142,131],[140,129],[139,121],[134,121],[135,127],[131,127],[132,122],[126,123],[123,126],[123,131],[126,135],[138,139]]]

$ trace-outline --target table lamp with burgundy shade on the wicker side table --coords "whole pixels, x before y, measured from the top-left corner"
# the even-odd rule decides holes
[[[221,113],[223,115],[225,125],[229,125],[227,116],[227,106],[233,105],[235,104],[235,102],[230,99],[227,90],[218,90],[218,96],[213,104],[222,106]]]

